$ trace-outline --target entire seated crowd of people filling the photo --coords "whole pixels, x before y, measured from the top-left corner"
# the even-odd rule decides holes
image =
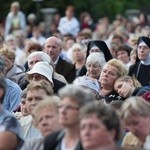
[[[150,150],[143,13],[94,23],[69,5],[47,30],[16,1],[0,28],[0,150]]]

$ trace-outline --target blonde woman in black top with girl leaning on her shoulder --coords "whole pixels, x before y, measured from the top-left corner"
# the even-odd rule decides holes
[[[101,85],[100,95],[107,103],[122,99],[114,91],[114,83],[117,78],[123,75],[127,75],[127,69],[121,61],[112,59],[104,65],[99,79]]]

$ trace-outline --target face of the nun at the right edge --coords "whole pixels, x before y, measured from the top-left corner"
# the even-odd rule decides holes
[[[137,47],[137,50],[138,50],[138,58],[140,60],[145,60],[150,53],[150,48],[146,45],[141,45],[141,46],[139,45]]]

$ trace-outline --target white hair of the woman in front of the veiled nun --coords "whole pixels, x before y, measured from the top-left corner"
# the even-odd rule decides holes
[[[105,57],[103,53],[91,53],[86,60],[86,65],[88,63],[97,63],[100,67],[103,67],[106,63]]]

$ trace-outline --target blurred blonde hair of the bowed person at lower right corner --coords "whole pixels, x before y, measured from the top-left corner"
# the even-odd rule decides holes
[[[130,97],[126,99],[121,107],[121,118],[128,123],[131,116],[148,116],[150,114],[150,103],[142,97]]]

